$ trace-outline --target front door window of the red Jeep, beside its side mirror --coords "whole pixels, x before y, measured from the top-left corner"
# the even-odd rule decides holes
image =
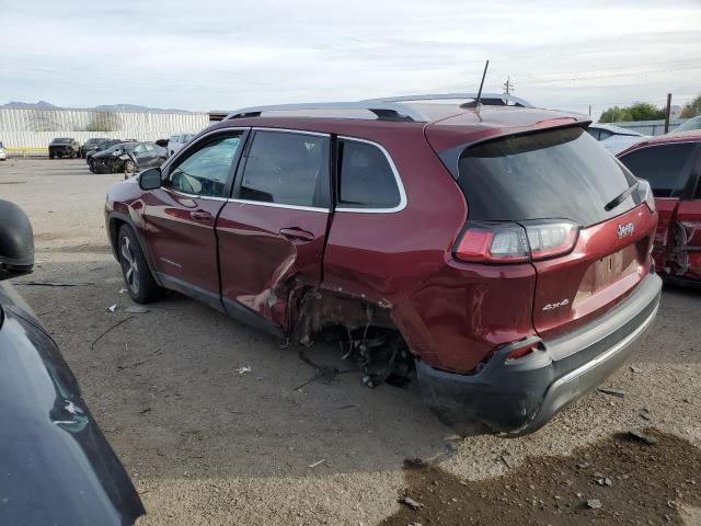
[[[240,141],[240,136],[223,137],[195,150],[171,168],[163,186],[186,194],[223,196],[223,187]]]

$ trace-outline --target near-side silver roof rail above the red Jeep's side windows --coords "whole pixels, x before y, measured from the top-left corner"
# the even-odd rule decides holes
[[[420,123],[430,121],[426,115],[406,104],[382,101],[310,102],[306,104],[276,104],[272,106],[244,107],[230,113],[225,121],[230,118],[258,117],[264,112],[291,112],[295,110],[365,110],[375,113],[379,118],[416,121]]]

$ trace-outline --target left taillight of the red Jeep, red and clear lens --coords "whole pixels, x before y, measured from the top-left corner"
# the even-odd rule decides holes
[[[474,263],[520,263],[570,252],[579,228],[568,221],[470,224],[455,256]]]

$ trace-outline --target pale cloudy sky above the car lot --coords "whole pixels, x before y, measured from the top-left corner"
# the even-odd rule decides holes
[[[0,0],[0,104],[191,111],[514,93],[598,114],[701,93],[701,0]]]

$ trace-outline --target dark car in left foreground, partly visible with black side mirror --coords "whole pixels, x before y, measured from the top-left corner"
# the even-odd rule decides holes
[[[5,282],[33,262],[26,216],[0,201],[0,524],[134,524],[139,495],[56,343]]]

